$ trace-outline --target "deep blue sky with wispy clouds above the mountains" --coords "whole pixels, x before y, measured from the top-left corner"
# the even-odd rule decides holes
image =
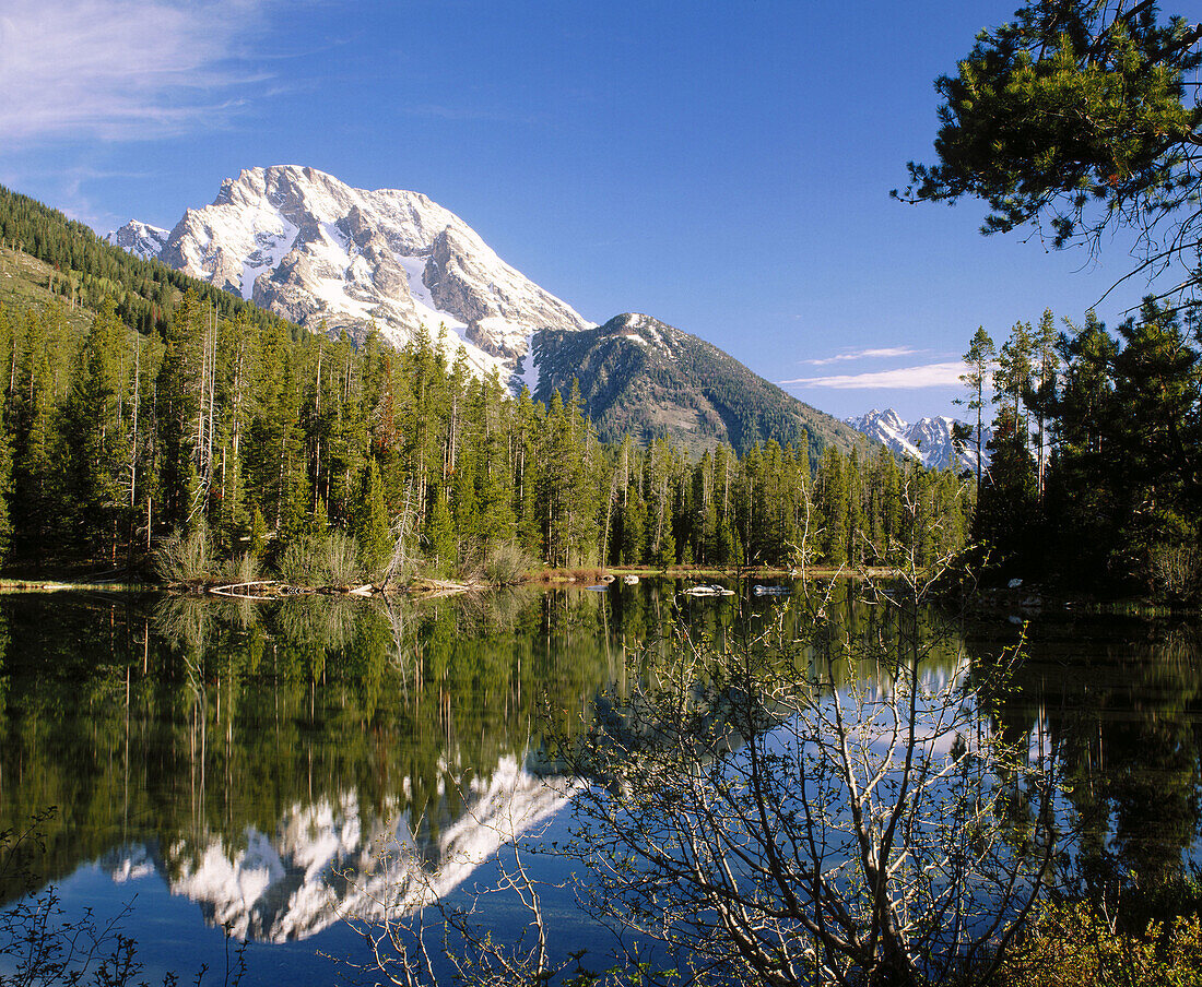
[[[1130,268],[888,197],[932,157],[934,78],[1014,6],[4,0],[0,183],[101,232],[254,166],[417,190],[590,319],[912,420],[951,413],[978,324],[1079,321]]]

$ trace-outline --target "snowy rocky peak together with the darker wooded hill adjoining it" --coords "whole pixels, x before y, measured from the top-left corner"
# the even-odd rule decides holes
[[[250,168],[171,231],[131,220],[108,240],[331,335],[362,340],[374,323],[404,346],[444,325],[475,372],[495,370],[514,391],[566,397],[578,379],[605,438],[668,436],[694,450],[728,442],[740,453],[775,439],[815,459],[858,441],[697,336],[642,315],[588,322],[418,192]]]

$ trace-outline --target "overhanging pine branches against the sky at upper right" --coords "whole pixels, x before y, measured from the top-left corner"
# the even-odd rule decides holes
[[[982,31],[957,74],[935,83],[939,163],[911,163],[905,197],[975,196],[992,210],[983,232],[1047,223],[1057,246],[1165,217],[1189,227],[1202,108],[1186,79],[1202,26],[1158,14],[1153,2],[1033,0]],[[1164,259],[1155,239],[1143,246]]]

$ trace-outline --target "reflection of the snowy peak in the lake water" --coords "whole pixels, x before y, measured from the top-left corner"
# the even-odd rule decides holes
[[[346,791],[292,806],[273,833],[248,826],[236,845],[216,836],[162,850],[126,844],[100,866],[118,883],[161,874],[173,895],[197,902],[210,925],[238,939],[307,939],[341,919],[400,919],[446,897],[576,788],[504,756],[492,777],[456,785],[454,815],[446,792],[436,825],[410,819],[398,798],[376,808]]]

